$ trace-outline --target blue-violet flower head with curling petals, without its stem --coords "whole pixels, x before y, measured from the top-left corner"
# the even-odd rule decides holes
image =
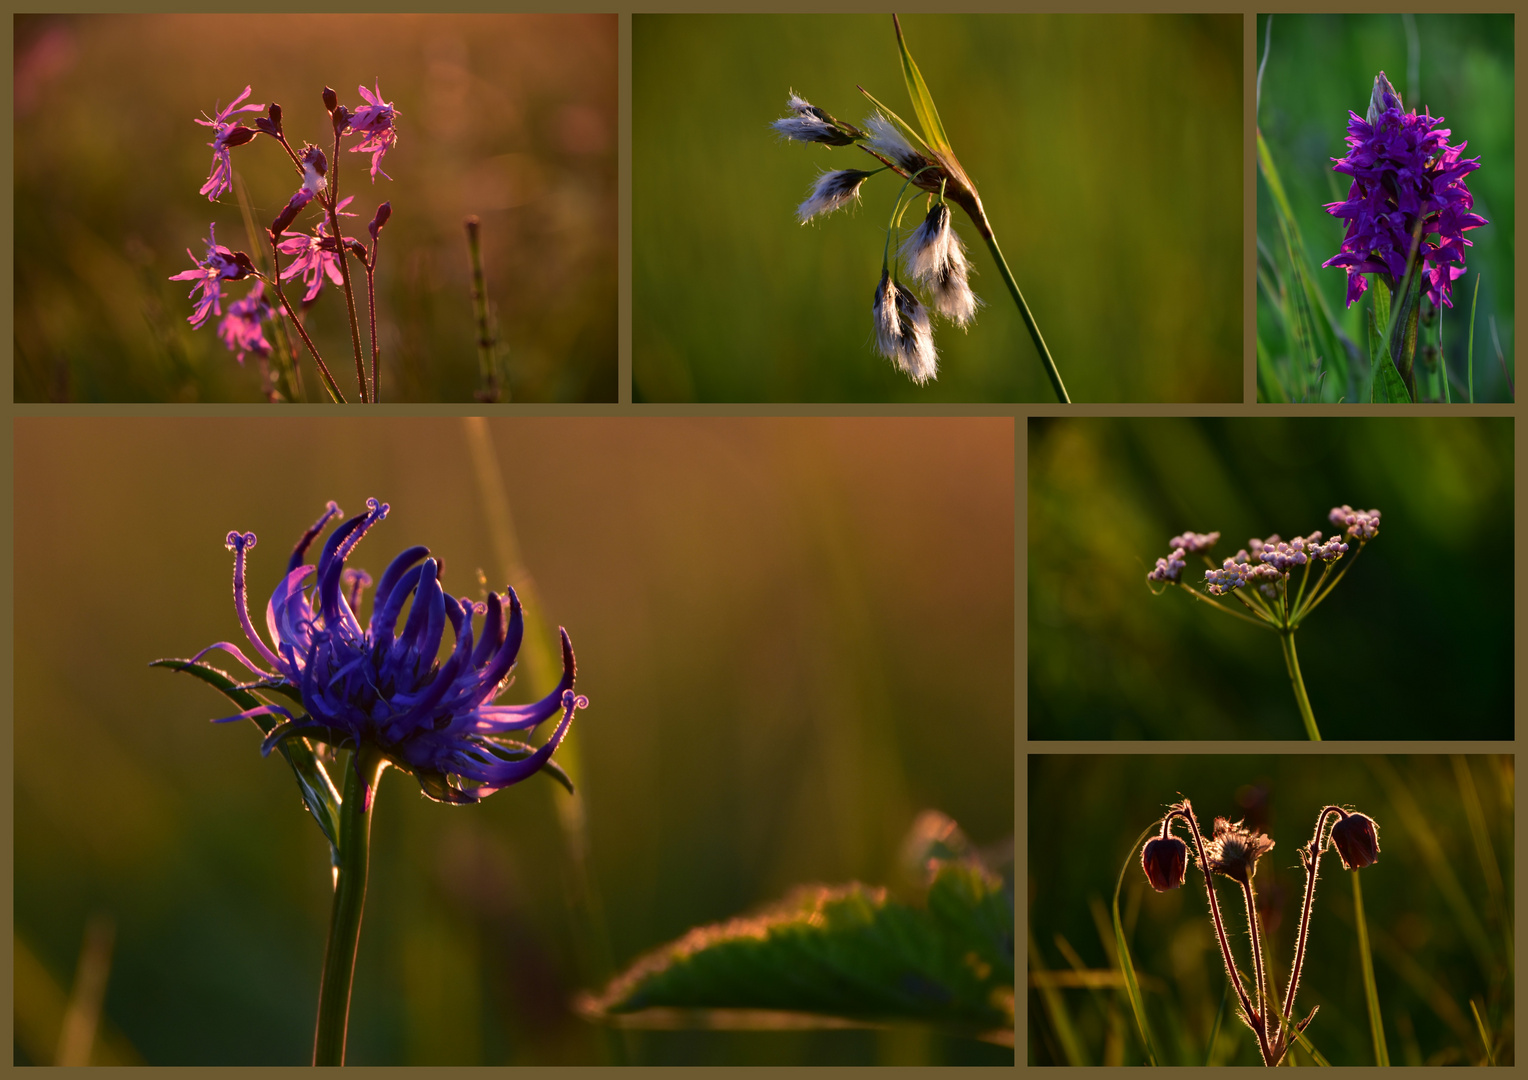
[[[495,706],[494,700],[510,681],[524,632],[520,597],[512,588],[504,590],[506,597],[489,593],[486,603],[448,596],[440,587],[440,564],[426,547],[411,547],[393,559],[377,582],[371,619],[362,626],[356,608],[371,579],[365,571],[347,570],[345,561],[387,512],[385,503],[367,500],[365,513],[330,535],[316,567],[304,564],[307,548],[341,515],[339,507],[330,503],[324,516],[303,533],[287,574],[266,606],[275,649],[255,631],[244,594],[244,558],[255,545],[255,535],[229,533],[238,622],[255,652],[275,671],[263,669],[231,642],[211,645],[197,657],[223,649],[260,675],[263,681],[254,689],[301,694],[306,716],[270,704],[225,718],[284,716],[286,723],[266,736],[263,753],[289,736],[348,747],[370,742],[393,765],[413,773],[426,796],[477,802],[545,767],[567,735],[573,712],[588,704],[588,698],[573,692],[573,645],[559,628],[562,680],[552,694],[535,704]],[[411,596],[413,606],[399,631]],[[483,614],[483,631],[475,639],[477,614]],[[442,663],[437,652],[446,623],[455,634],[455,648]],[[507,732],[535,729],[558,710],[562,721],[539,749],[504,738]]]

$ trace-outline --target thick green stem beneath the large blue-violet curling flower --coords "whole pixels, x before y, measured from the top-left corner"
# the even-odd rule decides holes
[[[329,915],[324,975],[318,985],[318,1028],[313,1065],[345,1063],[345,1028],[350,1023],[350,982],[356,973],[361,912],[367,903],[367,865],[371,855],[371,804],[387,758],[362,745],[345,767],[339,807],[339,866],[335,868],[335,906]]]

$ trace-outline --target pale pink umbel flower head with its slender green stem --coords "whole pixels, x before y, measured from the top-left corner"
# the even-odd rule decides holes
[[[1169,588],[1178,587],[1195,600],[1279,634],[1279,648],[1290,674],[1290,684],[1294,689],[1294,701],[1300,710],[1300,719],[1305,723],[1305,733],[1313,741],[1320,741],[1322,735],[1316,726],[1311,700],[1305,692],[1305,680],[1300,675],[1294,631],[1352,568],[1365,545],[1380,535],[1378,510],[1354,510],[1343,504],[1332,507],[1328,518],[1345,530],[1342,536],[1322,539],[1320,530],[1316,530],[1291,541],[1280,539],[1277,533],[1267,539],[1253,538],[1247,547],[1224,559],[1219,567],[1209,556],[1209,550],[1221,538],[1218,532],[1174,536],[1167,541],[1167,556],[1157,559],[1157,565],[1146,573],[1146,587],[1154,594],[1160,596]],[[1342,570],[1334,573],[1334,567],[1351,547],[1348,541],[1357,542],[1358,550]],[[1201,556],[1207,567],[1203,594],[1183,580],[1190,555]],[[1306,596],[1311,567],[1316,564],[1320,564],[1322,573]],[[1299,585],[1291,582],[1296,571],[1300,574]],[[1235,600],[1236,606],[1232,606],[1229,600]]]

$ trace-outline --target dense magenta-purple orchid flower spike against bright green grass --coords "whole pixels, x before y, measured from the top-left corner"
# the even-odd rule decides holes
[[[1348,304],[1369,287],[1365,273],[1383,273],[1392,286],[1406,276],[1415,237],[1416,257],[1433,306],[1453,307],[1455,278],[1464,275],[1465,231],[1487,225],[1470,212],[1475,199],[1464,182],[1481,167],[1464,157],[1467,144],[1449,145],[1441,116],[1401,112],[1401,98],[1384,78],[1374,79],[1368,118],[1348,113],[1348,156],[1334,157],[1335,173],[1352,177],[1346,202],[1326,212],[1348,221],[1342,252],[1322,263],[1348,270]],[[1420,231],[1420,232],[1418,232]],[[1436,235],[1436,243],[1429,237]]]

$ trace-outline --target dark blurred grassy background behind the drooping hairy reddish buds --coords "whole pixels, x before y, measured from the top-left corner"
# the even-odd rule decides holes
[[[1368,556],[1365,556],[1368,558]],[[1057,1011],[1036,973],[1114,967],[1109,904],[1126,860],[1120,915],[1163,1063],[1203,1065],[1225,990],[1204,877],[1189,865],[1181,889],[1152,892],[1135,836],[1180,797],[1201,829],[1245,819],[1274,840],[1254,884],[1264,956],[1285,987],[1317,811],[1337,804],[1380,826],[1380,860],[1361,871],[1380,1014],[1392,1065],[1484,1065],[1481,1011],[1496,1065],[1513,1042],[1511,756],[1047,756],[1030,758],[1030,1063],[1063,1063],[1057,1016],[1068,1017],[1088,1065],[1143,1063],[1120,990],[1059,990]],[[1187,829],[1183,836],[1187,836]],[[1374,1065],[1354,921],[1352,871],[1322,859],[1296,1011],[1320,1013],[1306,1034],[1332,1065]],[[1239,889],[1219,880],[1232,950],[1248,973]],[[1102,939],[1100,939],[1102,938]],[[1071,958],[1076,959],[1071,959]],[[1117,970],[1117,968],[1115,968]],[[1041,976],[1044,978],[1044,976]],[[1115,984],[1117,985],[1117,984]],[[1251,1031],[1227,1007],[1215,1063],[1258,1065]],[[1065,1022],[1065,1020],[1063,1020]],[[1300,1065],[1311,1060],[1294,1051]]]

